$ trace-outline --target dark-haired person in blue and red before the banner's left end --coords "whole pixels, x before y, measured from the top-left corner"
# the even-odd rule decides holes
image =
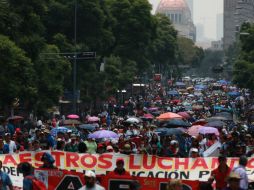
[[[46,190],[45,184],[33,175],[33,167],[28,162],[18,165],[18,170],[23,173],[23,190]]]

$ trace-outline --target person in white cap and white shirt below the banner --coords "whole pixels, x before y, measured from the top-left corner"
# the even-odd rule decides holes
[[[96,175],[93,171],[86,171],[84,177],[86,185],[81,187],[79,190],[105,190],[104,187],[96,183]]]

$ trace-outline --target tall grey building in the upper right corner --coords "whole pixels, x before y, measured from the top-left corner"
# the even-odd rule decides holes
[[[254,22],[254,0],[224,0],[224,49],[235,42],[244,22]]]

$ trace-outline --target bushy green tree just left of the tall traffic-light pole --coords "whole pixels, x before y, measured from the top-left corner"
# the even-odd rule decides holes
[[[71,69],[70,62],[60,56],[55,45],[47,45],[35,61],[38,96],[35,99],[36,111],[45,113],[48,108],[58,104],[64,91],[64,79]]]

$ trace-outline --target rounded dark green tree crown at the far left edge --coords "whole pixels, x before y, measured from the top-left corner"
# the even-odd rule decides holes
[[[12,106],[15,98],[22,103],[35,97],[35,72],[25,52],[8,37],[0,35],[0,104],[3,108]]]

